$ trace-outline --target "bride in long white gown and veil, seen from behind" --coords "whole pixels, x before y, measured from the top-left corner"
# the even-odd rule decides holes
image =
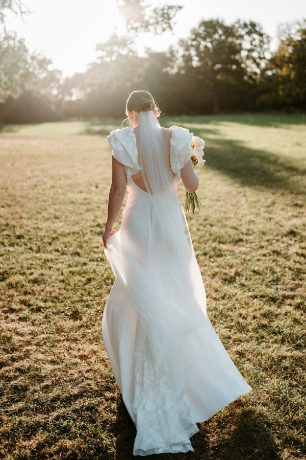
[[[183,206],[198,187],[192,132],[163,128],[148,91],[126,103],[130,127],[107,137],[112,183],[103,234],[115,282],[102,317],[114,377],[136,427],[134,455],[194,451],[197,422],[251,391],[214,331]],[[128,196],[118,232],[126,188]]]

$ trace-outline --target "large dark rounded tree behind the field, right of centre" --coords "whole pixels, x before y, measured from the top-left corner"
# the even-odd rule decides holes
[[[198,112],[243,109],[255,99],[268,37],[255,22],[201,21],[173,51],[174,70],[189,76]],[[181,49],[181,51],[180,51]]]

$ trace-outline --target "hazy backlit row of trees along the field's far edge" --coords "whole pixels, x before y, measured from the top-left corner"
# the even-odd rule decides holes
[[[31,53],[22,38],[5,29],[5,9],[20,5],[0,0],[0,122],[124,118],[134,89],[150,91],[169,115],[305,109],[306,20],[279,27],[274,52],[256,22],[225,24],[213,18],[201,20],[187,39],[165,52],[147,49],[139,56],[134,37],[171,29],[181,7],[166,5],[161,14],[147,12],[141,0],[121,0],[119,6],[126,35],[96,44],[96,61],[63,78],[49,68],[51,59]]]

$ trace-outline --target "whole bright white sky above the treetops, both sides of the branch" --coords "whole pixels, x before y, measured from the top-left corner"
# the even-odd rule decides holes
[[[188,36],[200,20],[219,18],[227,24],[236,19],[259,22],[264,31],[275,37],[277,25],[306,17],[305,0],[151,0],[152,6],[178,4],[184,8],[175,18],[174,33],[160,37],[147,35],[139,40],[141,53],[146,45],[154,50],[165,50],[179,38]],[[112,31],[122,33],[124,21],[120,18],[115,0],[24,0],[32,14],[19,17],[10,15],[7,28],[16,30],[25,39],[30,51],[42,51],[53,60],[53,67],[64,76],[86,70],[96,59],[95,44],[107,40]],[[272,48],[276,40],[272,41]]]

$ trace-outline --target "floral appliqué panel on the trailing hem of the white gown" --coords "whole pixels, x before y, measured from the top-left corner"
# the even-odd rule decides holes
[[[162,337],[155,337],[154,344],[150,344],[147,330],[139,320],[134,355],[132,407],[137,429],[134,454],[152,449],[150,453],[169,452],[165,450],[169,446],[182,444],[193,451],[189,438],[198,427],[184,388],[176,381],[176,374],[169,372],[169,363],[163,358],[166,353]]]

